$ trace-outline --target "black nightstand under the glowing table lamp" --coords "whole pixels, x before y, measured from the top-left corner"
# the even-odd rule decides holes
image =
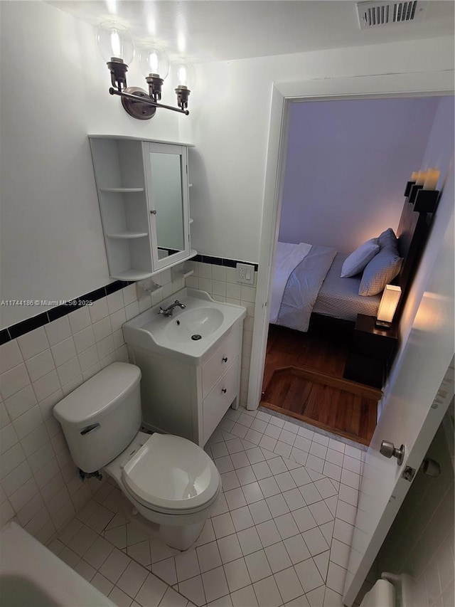
[[[382,388],[397,347],[398,327],[378,329],[375,322],[375,316],[357,315],[343,377]]]

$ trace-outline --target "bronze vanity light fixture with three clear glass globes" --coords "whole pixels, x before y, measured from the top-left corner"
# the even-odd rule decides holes
[[[97,42],[102,58],[105,59],[111,73],[111,95],[122,97],[122,105],[130,116],[138,120],[149,120],[155,115],[157,107],[180,112],[188,115],[188,97],[191,93],[186,81],[178,80],[176,88],[178,107],[159,103],[161,87],[168,75],[169,61],[161,48],[156,46],[144,47],[139,51],[139,64],[149,85],[149,93],[139,87],[127,85],[128,65],[134,58],[134,43],[126,27],[121,23],[107,21],[101,23],[97,32]],[[184,65],[185,70],[177,70],[178,75],[188,76],[191,67]]]

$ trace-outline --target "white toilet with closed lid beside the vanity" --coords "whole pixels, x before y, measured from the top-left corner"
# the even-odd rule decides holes
[[[74,463],[85,475],[104,469],[168,546],[188,549],[221,491],[207,453],[180,436],[141,427],[139,367],[114,362],[55,405]]]

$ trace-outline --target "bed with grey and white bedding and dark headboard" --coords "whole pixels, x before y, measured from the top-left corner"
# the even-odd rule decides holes
[[[401,258],[400,270],[390,282],[402,289],[396,317],[400,316],[410,290],[433,216],[433,212],[427,212],[422,204],[419,204],[419,210],[415,210],[415,200],[415,196],[413,200],[410,197],[405,199],[395,240],[397,256]],[[379,238],[389,231],[392,228],[381,233]],[[359,295],[369,263],[363,272],[341,278],[341,269],[347,258],[348,255],[330,247],[278,243],[269,322],[306,332],[311,315],[350,322],[355,322],[358,314],[375,316],[382,291],[375,295]],[[373,263],[371,261],[370,265]]]

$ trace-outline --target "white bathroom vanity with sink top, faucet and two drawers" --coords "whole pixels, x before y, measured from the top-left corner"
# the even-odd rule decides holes
[[[174,300],[185,309],[160,315]],[[245,315],[245,307],[186,288],[123,325],[129,360],[141,369],[146,428],[205,445],[238,406]]]

